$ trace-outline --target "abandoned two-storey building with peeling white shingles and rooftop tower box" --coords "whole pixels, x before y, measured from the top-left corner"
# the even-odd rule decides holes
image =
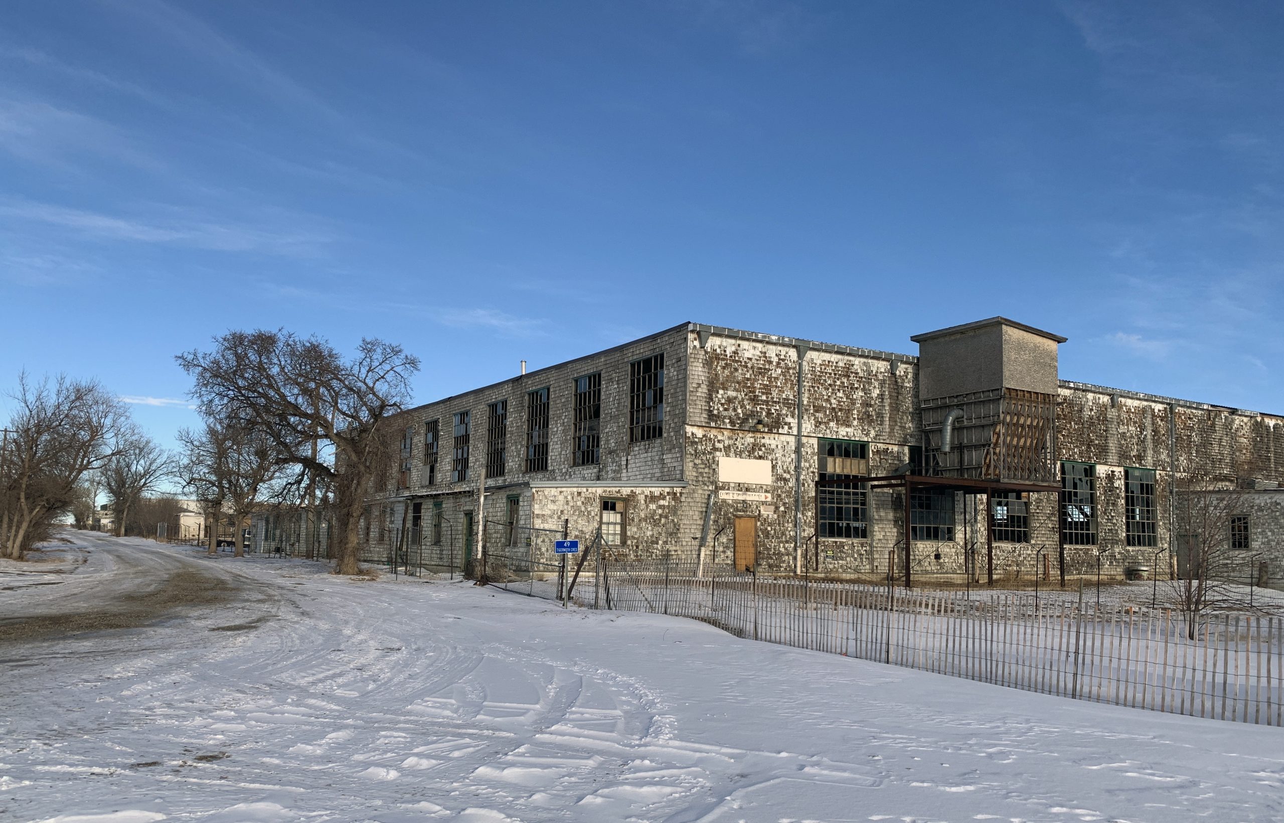
[[[367,557],[474,557],[483,472],[485,551],[542,561],[600,534],[777,574],[1118,575],[1171,562],[1197,483],[1252,490],[1245,560],[1284,537],[1284,419],[1061,380],[1066,338],[1004,317],[910,340],[687,322],[399,412]]]

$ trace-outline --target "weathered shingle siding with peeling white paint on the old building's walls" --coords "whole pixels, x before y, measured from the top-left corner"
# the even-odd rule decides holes
[[[806,349],[801,442],[800,344]],[[628,367],[657,352],[665,356],[664,437],[629,443]],[[602,375],[601,463],[573,466],[571,381],[597,371]],[[550,389],[548,470],[526,472],[526,393],[544,386]],[[562,529],[570,537],[592,539],[602,498],[620,498],[628,505],[630,552],[695,553],[706,537],[706,553],[716,552],[722,561],[731,559],[733,519],[751,515],[758,517],[760,569],[792,571],[801,544],[805,567],[878,573],[886,569],[889,552],[903,544],[904,497],[889,489],[871,490],[867,538],[817,543],[818,444],[826,438],[867,442],[871,474],[892,472],[909,458],[909,447],[921,443],[917,392],[918,365],[913,356],[684,324],[404,412],[398,425],[408,422],[416,429],[415,471],[410,489],[399,494],[442,499],[447,517],[455,521],[474,508],[476,479],[485,458],[487,406],[503,398],[508,402],[508,460],[503,479],[489,484],[490,520],[505,520],[506,497],[517,494],[520,524],[537,529],[541,541],[551,542],[550,535]],[[461,410],[473,413],[470,476],[452,484],[451,424],[452,415]],[[440,421],[440,451],[438,481],[426,487],[420,481],[422,422],[430,419]],[[770,483],[720,483],[720,456],[769,461]],[[1097,466],[1098,541],[1094,546],[1066,547],[1067,571],[1090,573],[1100,557],[1106,570],[1118,573],[1126,565],[1148,564],[1156,551],[1126,544],[1127,467],[1156,470],[1157,547],[1166,547],[1172,488],[1203,478],[1228,483],[1260,478],[1284,484],[1284,420],[1063,380],[1058,390],[1057,458]],[[795,507],[796,492],[800,507]],[[767,493],[770,499],[734,499],[745,493]],[[917,573],[958,573],[964,567],[966,546],[972,546],[984,578],[986,501],[978,496],[964,503],[963,494],[954,497],[954,539],[915,542],[912,562]],[[425,506],[425,529],[428,511]],[[1028,543],[995,544],[996,574],[1030,574],[1040,553],[1053,557],[1055,573],[1061,543],[1058,493],[1031,496],[1030,511]],[[1254,541],[1258,535],[1274,539],[1271,534],[1265,529],[1254,532]],[[494,539],[488,546],[494,547]],[[895,562],[899,569],[899,556]]]

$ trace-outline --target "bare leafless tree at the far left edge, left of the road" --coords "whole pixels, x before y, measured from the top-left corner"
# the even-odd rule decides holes
[[[77,484],[121,449],[128,412],[92,380],[18,379],[0,453],[0,555],[22,560],[76,499]]]

